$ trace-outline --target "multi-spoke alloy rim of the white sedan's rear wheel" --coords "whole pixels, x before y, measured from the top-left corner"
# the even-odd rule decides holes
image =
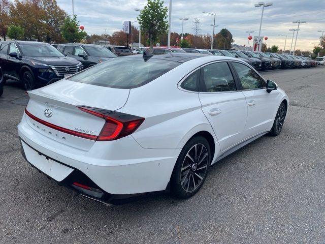
[[[188,150],[180,172],[180,182],[185,192],[193,192],[201,186],[208,162],[208,150],[204,144],[195,144]]]

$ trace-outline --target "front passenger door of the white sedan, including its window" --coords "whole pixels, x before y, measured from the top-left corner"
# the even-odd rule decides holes
[[[245,126],[245,139],[271,130],[276,97],[275,93],[267,93],[264,80],[254,70],[243,63],[231,62],[238,75],[242,92],[246,98],[248,116]]]

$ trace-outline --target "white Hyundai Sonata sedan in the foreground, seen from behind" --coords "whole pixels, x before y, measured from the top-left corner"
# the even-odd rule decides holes
[[[288,97],[237,58],[171,53],[114,58],[28,91],[24,158],[59,185],[118,204],[199,191],[209,167],[281,132]]]

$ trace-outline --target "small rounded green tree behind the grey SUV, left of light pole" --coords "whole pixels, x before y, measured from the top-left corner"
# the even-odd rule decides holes
[[[64,40],[69,43],[80,42],[87,36],[87,33],[79,29],[79,21],[77,16],[66,18],[61,26],[61,34]]]

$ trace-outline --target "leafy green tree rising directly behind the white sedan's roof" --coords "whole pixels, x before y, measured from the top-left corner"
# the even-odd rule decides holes
[[[152,51],[153,43],[160,34],[167,32],[168,21],[167,7],[163,7],[164,1],[148,0],[147,5],[137,17],[141,26],[141,31],[147,34],[150,42],[150,50]]]

